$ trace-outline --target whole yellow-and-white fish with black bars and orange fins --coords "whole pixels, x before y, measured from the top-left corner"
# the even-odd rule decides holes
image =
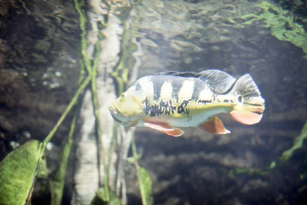
[[[216,114],[253,125],[262,118],[265,99],[250,74],[236,79],[217,69],[167,71],[141,77],[108,110],[120,125],[149,127],[175,137],[184,134],[184,127],[227,134]]]

